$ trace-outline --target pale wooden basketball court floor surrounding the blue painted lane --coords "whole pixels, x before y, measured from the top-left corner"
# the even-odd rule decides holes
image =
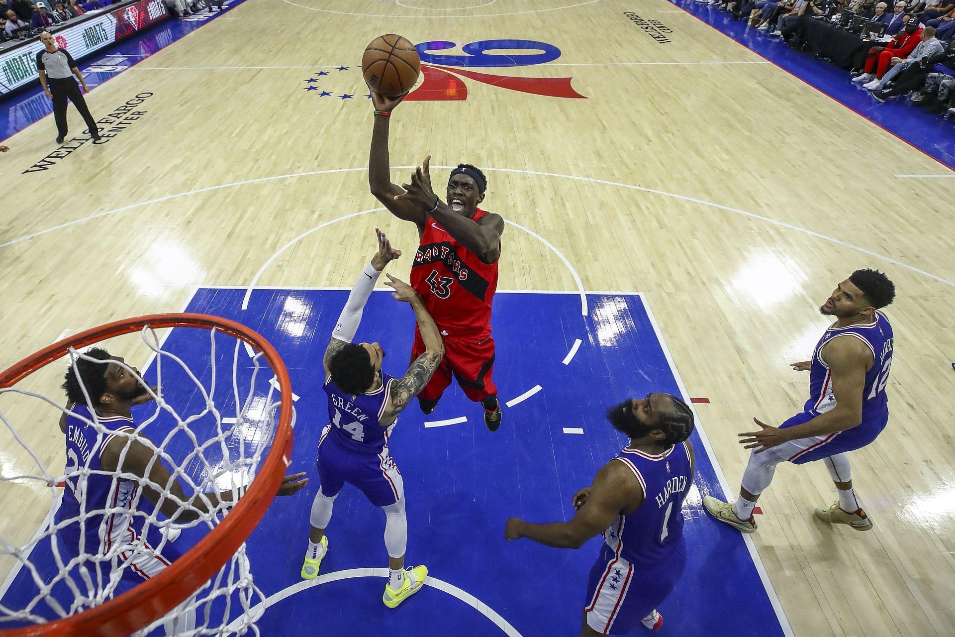
[[[733,489],[747,457],[736,434],[806,399],[808,374],[789,363],[828,325],[817,307],[859,267],[892,278],[892,415],[852,455],[875,530],[824,528],[812,510],[834,500],[828,474],[786,466],[753,541],[797,637],[955,634],[953,182],[894,177],[951,173],[665,0],[246,0],[96,87],[94,116],[138,113],[106,143],[25,173],[53,149],[52,117],[5,142],[0,367],[64,334],[179,311],[197,287],[350,286],[376,226],[410,254],[414,227],[367,184],[358,67],[386,32],[454,43],[435,54],[559,49],[541,64],[495,47],[516,62],[435,65],[461,73],[395,109],[391,157],[406,168],[393,180],[427,155],[439,192],[459,161],[484,169],[482,207],[510,223],[501,288],[643,292],[690,395],[710,401],[697,414]],[[475,74],[572,78],[582,97]],[[80,130],[73,109],[70,121]],[[406,278],[410,260],[395,265]],[[147,353],[130,339],[124,355]],[[63,370],[29,386],[58,400]],[[34,473],[0,431],[3,475]],[[58,466],[53,409],[21,433]],[[0,485],[3,536],[29,540],[49,503],[35,483]]]

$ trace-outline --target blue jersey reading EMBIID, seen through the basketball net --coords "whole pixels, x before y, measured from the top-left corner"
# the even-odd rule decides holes
[[[76,405],[75,414],[93,420],[93,414],[85,405]],[[92,473],[74,475],[77,469],[88,467],[91,471],[104,471],[99,455],[106,444],[116,437],[117,432],[134,432],[132,418],[123,416],[100,417],[98,419],[107,433],[97,434],[96,429],[74,415],[66,420],[66,488],[63,501],[56,510],[55,521],[61,528],[60,537],[69,549],[78,555],[83,553],[102,555],[113,548],[117,541],[125,541],[133,520],[129,510],[136,496],[138,483],[133,480],[114,478],[111,475]],[[92,511],[111,509],[109,515],[89,514]],[[77,520],[78,519],[78,520]],[[74,520],[69,522],[69,520]],[[85,541],[83,541],[85,538]]]

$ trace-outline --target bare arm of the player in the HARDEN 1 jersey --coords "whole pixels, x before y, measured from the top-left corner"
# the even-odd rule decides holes
[[[579,500],[583,504],[570,521],[534,524],[511,518],[504,526],[504,538],[527,538],[554,548],[580,548],[585,541],[603,533],[621,511],[642,505],[644,497],[629,469],[622,462],[610,460],[597,472],[586,494],[583,490],[575,494],[575,505]]]

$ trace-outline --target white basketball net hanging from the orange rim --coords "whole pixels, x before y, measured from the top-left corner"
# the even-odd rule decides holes
[[[21,569],[29,573],[32,586],[35,588],[35,594],[33,594],[34,591],[31,591],[26,596],[20,596],[27,599],[32,595],[32,599],[29,599],[26,604],[19,604],[18,607],[7,607],[0,604],[0,630],[26,624],[43,624],[103,604],[122,592],[122,589],[117,590],[117,586],[124,574],[127,576],[127,582],[132,581],[137,584],[138,581],[142,581],[141,577],[134,575],[134,572],[138,572],[141,567],[142,560],[145,559],[148,563],[151,558],[155,559],[156,556],[162,555],[163,550],[168,546],[184,553],[186,547],[180,548],[172,543],[180,533],[192,528],[199,528],[200,532],[207,533],[223,520],[228,513],[228,506],[231,506],[231,504],[223,504],[220,499],[210,498],[208,494],[218,492],[227,498],[226,494],[231,492],[233,501],[238,500],[243,495],[247,485],[251,483],[267,454],[275,433],[279,390],[278,383],[267,364],[264,368],[265,373],[260,374],[263,371],[263,355],[261,352],[250,359],[249,354],[252,351],[249,350],[246,354],[243,349],[243,341],[235,339],[235,349],[232,352],[231,396],[228,396],[229,391],[227,389],[220,392],[227,396],[221,402],[231,402],[234,405],[234,412],[223,417],[220,409],[216,406],[216,340],[217,334],[220,339],[226,337],[226,335],[216,329],[209,330],[209,358],[206,361],[202,356],[203,363],[211,362],[209,365],[211,382],[209,387],[206,388],[179,356],[161,349],[159,338],[154,329],[146,326],[140,334],[149,349],[155,353],[156,379],[160,389],[159,393],[154,393],[152,389],[147,388],[155,402],[134,408],[134,422],[131,426],[135,428],[135,432],[127,431],[116,434],[100,422],[99,416],[95,415],[92,419],[85,418],[66,410],[62,407],[65,402],[63,398],[54,400],[39,393],[16,388],[0,389],[0,394],[16,393],[29,399],[43,401],[63,414],[80,417],[86,426],[96,430],[96,444],[85,462],[81,459],[78,462],[68,459],[66,473],[61,474],[59,467],[51,469],[44,466],[38,454],[34,453],[30,446],[23,441],[21,433],[18,432],[17,427],[8,418],[8,415],[0,411],[0,420],[2,420],[3,425],[23,449],[30,454],[39,471],[35,475],[3,475],[0,476],[0,480],[3,482],[10,480],[21,482],[36,480],[41,482],[45,488],[50,488],[56,493],[53,498],[53,509],[59,503],[58,492],[60,488],[56,485],[68,482],[65,488],[73,488],[77,494],[76,499],[80,501],[78,517],[59,520],[58,522],[51,521],[48,528],[25,545],[13,545],[7,538],[0,537],[0,557],[13,556],[16,562],[21,565]],[[117,354],[116,351],[111,351],[111,353]],[[69,359],[69,364],[74,371],[76,370],[76,361],[85,359],[104,366],[113,362],[120,365],[126,372],[134,373],[126,363],[96,361],[96,359],[73,349],[70,350]],[[225,363],[227,364],[227,360]],[[172,369],[164,372],[164,364],[167,367],[171,366]],[[63,369],[65,370],[65,368]],[[167,377],[180,377],[184,374],[184,377],[187,377],[195,385],[195,391],[191,395],[188,395],[190,392],[185,392],[187,395],[182,400],[177,400],[181,396],[167,394],[166,390],[161,389],[163,388],[164,374]],[[240,379],[241,375],[245,377]],[[250,377],[248,377],[249,375]],[[79,374],[77,373],[78,377]],[[227,378],[220,380],[227,382]],[[141,379],[140,384],[145,385]],[[287,392],[291,391],[290,388],[284,389]],[[191,387],[190,390],[192,390]],[[85,386],[83,386],[83,393],[89,396]],[[175,393],[181,393],[179,386],[177,386]],[[7,396],[0,397],[6,398]],[[231,398],[231,401],[229,398]],[[190,401],[191,405],[185,404]],[[197,407],[197,403],[201,404]],[[177,404],[179,406],[176,406]],[[35,408],[32,409],[34,418],[36,414],[46,414],[48,412],[48,409],[41,408],[38,404],[35,404]],[[146,412],[151,412],[151,414],[148,417],[141,418],[141,415]],[[31,410],[27,410],[25,413],[30,414]],[[94,412],[94,414],[96,413]],[[31,427],[51,427],[51,432],[59,435],[55,421],[49,423],[28,421],[27,424]],[[111,424],[114,428],[116,427],[116,422]],[[114,434],[126,439],[119,460],[119,468],[122,472],[121,478],[133,480],[137,483],[138,488],[133,491],[132,497],[125,506],[122,506],[121,502],[119,505],[109,506],[108,502],[115,501],[114,498],[117,496],[118,485],[120,484],[120,481],[113,479],[109,498],[106,501],[84,501],[84,499],[94,498],[92,495],[87,497],[83,494],[84,485],[89,477],[95,474],[110,476],[111,478],[116,476],[114,473],[103,470],[96,471],[90,468],[93,458],[98,455],[99,445],[103,443],[107,436]],[[182,485],[186,501],[177,502],[177,516],[183,510],[191,510],[200,514],[198,520],[174,523],[162,516],[159,513],[159,508],[163,502],[168,499],[176,500],[169,492],[170,485],[156,484],[147,478],[138,478],[133,474],[122,471],[123,458],[125,458],[133,439],[146,444],[154,452],[154,456],[150,460],[150,467],[152,467],[153,462],[161,460],[172,472],[172,477],[179,480]],[[176,441],[175,445],[172,444],[174,439]],[[185,453],[182,453],[183,448]],[[149,473],[147,472],[146,475],[148,476]],[[157,504],[143,496],[143,487],[146,486],[152,486],[161,494]],[[201,509],[197,508],[197,502],[199,501],[204,503],[204,508],[209,513],[202,513]],[[53,516],[49,520],[53,520]],[[87,523],[99,526],[99,537],[104,537],[103,533],[107,532],[107,522],[105,520],[114,520],[115,524],[129,523],[135,529],[135,532],[114,534],[111,537],[117,538],[117,540],[112,541],[112,546],[109,548],[98,541],[94,546],[87,545],[85,534]],[[117,520],[119,521],[117,522]],[[68,532],[64,531],[66,527],[71,527],[74,531],[77,528],[80,529],[78,547],[75,541],[72,542],[71,548],[70,542],[63,540],[68,535]],[[150,529],[154,530],[154,534],[155,530],[161,531],[162,538],[158,545],[154,546],[146,541]],[[57,533],[63,534],[59,541],[56,538]],[[197,533],[192,532],[192,535],[195,536]],[[75,533],[72,534],[72,537],[75,537]],[[37,553],[42,552],[45,556],[50,553],[53,554],[55,572],[49,572],[51,570],[49,557],[40,560],[37,555],[31,555],[34,547],[38,547]],[[40,564],[33,563],[33,559]],[[41,570],[44,568],[44,563],[46,564],[45,571]],[[21,572],[21,581],[22,576]],[[68,591],[68,593],[64,595],[64,591]],[[72,600],[69,599],[71,596]],[[245,556],[245,544],[243,543],[232,559],[223,564],[215,577],[194,591],[185,602],[165,617],[150,626],[144,627],[135,634],[146,635],[154,629],[158,629],[157,634],[162,634],[162,629],[164,629],[167,634],[183,635],[185,637],[191,635],[241,635],[251,629],[254,634],[258,635],[258,628],[255,627],[256,618],[253,617],[250,610],[254,605],[264,602],[264,600],[262,592],[253,582],[249,562]],[[159,629],[160,626],[162,629]],[[226,628],[226,626],[228,627]]]

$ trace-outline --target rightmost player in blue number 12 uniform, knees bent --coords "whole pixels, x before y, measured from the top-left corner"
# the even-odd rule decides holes
[[[889,419],[885,385],[895,339],[881,308],[892,303],[895,285],[879,270],[853,272],[819,308],[836,322],[822,334],[811,361],[793,363],[809,371],[809,400],[778,428],[753,418],[760,431],[739,434],[753,449],[743,472],[739,498],[724,502],[707,496],[703,505],[716,520],[743,533],[754,533],[753,507],[769,487],[780,462],[822,460],[836,483],[838,500],[816,509],[819,520],[868,531],[872,520],[859,506],[852,487],[848,452],[873,442]]]

